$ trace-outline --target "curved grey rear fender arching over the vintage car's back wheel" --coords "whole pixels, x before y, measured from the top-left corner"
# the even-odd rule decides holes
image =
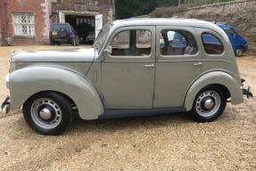
[[[238,85],[235,78],[225,72],[213,71],[199,77],[194,84],[190,86],[184,102],[186,110],[192,110],[196,94],[206,85],[224,85],[231,95],[232,104],[244,102],[243,92],[240,89],[241,85]]]

